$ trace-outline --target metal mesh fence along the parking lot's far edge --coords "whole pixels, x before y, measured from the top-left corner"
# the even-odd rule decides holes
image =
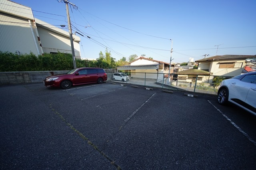
[[[132,85],[143,85],[145,87],[158,87],[163,89],[184,90],[199,93],[207,93],[216,95],[218,92],[218,83],[214,83],[215,77],[223,77],[228,79],[228,76],[216,75],[179,75],[166,73],[134,73],[126,72],[130,77],[129,81],[114,81],[127,83]],[[108,80],[110,80],[108,78]]]

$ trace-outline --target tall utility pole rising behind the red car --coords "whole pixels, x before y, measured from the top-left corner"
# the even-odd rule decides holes
[[[74,43],[73,43],[72,28],[71,28],[71,22],[70,22],[70,16],[69,16],[68,4],[72,5],[75,8],[77,8],[77,7],[76,7],[76,5],[72,4],[71,2],[68,2],[67,0],[59,0],[58,2],[61,2],[61,1],[63,1],[66,4],[72,59],[73,59],[74,69],[76,69],[76,56],[75,56],[75,50],[74,50]]]

